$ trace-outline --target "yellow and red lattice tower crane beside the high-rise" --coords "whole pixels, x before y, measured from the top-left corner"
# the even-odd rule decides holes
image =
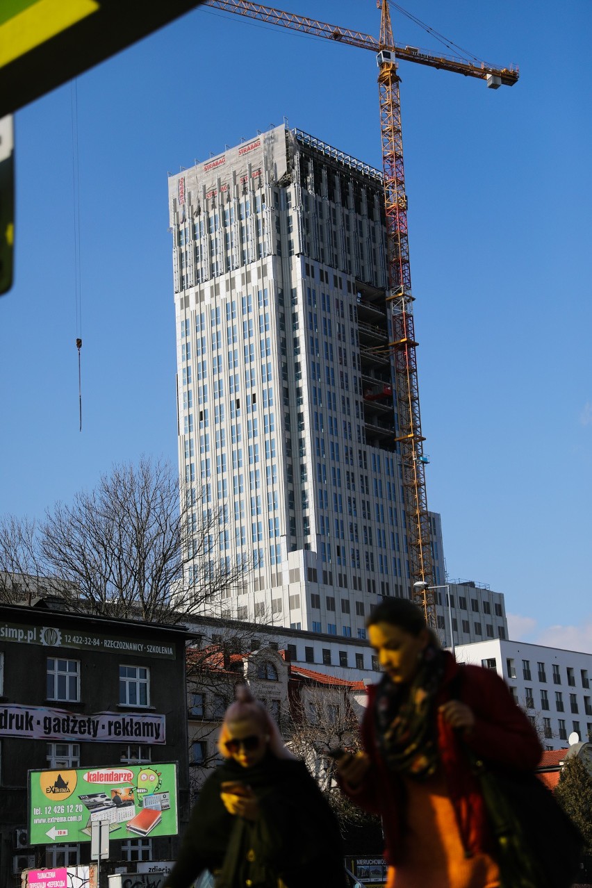
[[[490,89],[517,83],[515,67],[493,67],[453,56],[432,55],[414,46],[395,43],[392,36],[388,0],[377,0],[381,9],[380,37],[363,34],[350,28],[308,19],[293,12],[250,3],[249,0],[205,0],[204,5],[225,12],[234,12],[250,19],[264,21],[281,28],[302,31],[317,37],[376,53],[380,101],[381,136],[383,142],[383,187],[386,216],[388,281],[387,305],[390,306],[389,353],[394,364],[397,406],[396,442],[402,467],[407,548],[414,599],[422,607],[426,622],[436,628],[436,604],[430,584],[433,582],[430,545],[430,516],[425,491],[422,422],[417,385],[417,362],[414,337],[409,245],[407,240],[407,195],[403,168],[403,139],[399,103],[399,59],[418,65],[441,68],[485,80]]]

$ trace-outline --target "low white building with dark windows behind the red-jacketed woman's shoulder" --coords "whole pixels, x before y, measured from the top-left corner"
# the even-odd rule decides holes
[[[500,638],[457,646],[455,653],[505,679],[546,749],[564,749],[571,733],[592,739],[592,654]]]

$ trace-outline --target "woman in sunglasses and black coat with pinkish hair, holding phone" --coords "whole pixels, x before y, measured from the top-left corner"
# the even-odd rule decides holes
[[[225,761],[204,783],[165,888],[205,869],[216,888],[343,888],[335,816],[263,703],[241,685],[218,740]]]

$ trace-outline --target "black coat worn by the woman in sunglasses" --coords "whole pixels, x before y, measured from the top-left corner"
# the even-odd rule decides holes
[[[253,789],[257,821],[226,811],[220,798],[224,781],[241,781]],[[254,888],[275,888],[278,877],[288,888],[343,888],[339,827],[302,762],[268,755],[248,769],[232,759],[219,765],[201,789],[166,888],[188,888],[202,870],[220,870],[231,842],[237,857],[233,888],[249,878]]]

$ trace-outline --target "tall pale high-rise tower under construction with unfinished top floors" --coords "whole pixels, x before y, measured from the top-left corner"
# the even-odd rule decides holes
[[[170,176],[181,487],[225,506],[211,559],[252,567],[239,619],[365,638],[409,595],[383,200],[379,170],[285,126]]]

